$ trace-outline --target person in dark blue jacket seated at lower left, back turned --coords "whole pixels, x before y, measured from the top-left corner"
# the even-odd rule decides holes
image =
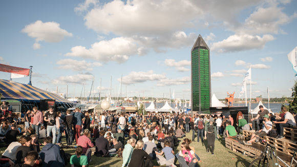
[[[48,136],[44,139],[44,147],[40,151],[40,158],[43,161],[44,167],[62,167],[65,166],[65,161],[60,154],[60,147],[52,143],[52,137]]]

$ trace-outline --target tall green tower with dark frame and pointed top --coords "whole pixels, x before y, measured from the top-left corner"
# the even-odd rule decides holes
[[[199,34],[191,50],[192,112],[209,111],[211,106],[211,78],[209,48]]]

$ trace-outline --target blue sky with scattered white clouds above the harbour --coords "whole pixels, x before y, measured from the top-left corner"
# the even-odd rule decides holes
[[[33,66],[33,86],[80,96],[95,78],[103,96],[190,96],[190,49],[210,48],[211,90],[235,91],[251,66],[252,97],[290,96],[297,1],[1,1],[0,61]],[[9,79],[10,74],[0,72]],[[28,78],[13,79],[27,83]],[[248,87],[249,88],[249,87]],[[249,90],[248,90],[249,91]],[[84,92],[84,91],[82,91]]]

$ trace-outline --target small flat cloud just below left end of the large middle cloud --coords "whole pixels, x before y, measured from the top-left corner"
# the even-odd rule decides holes
[[[92,67],[102,66],[100,62],[87,62],[85,60],[74,60],[74,59],[61,59],[57,61],[57,65],[60,65],[58,68],[74,70],[74,71],[92,71]]]

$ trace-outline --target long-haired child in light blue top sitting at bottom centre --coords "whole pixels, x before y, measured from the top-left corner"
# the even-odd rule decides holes
[[[162,149],[161,153],[156,152],[156,157],[157,157],[158,163],[160,163],[160,165],[176,166],[174,164],[174,160],[175,160],[174,151],[170,147],[169,141],[166,140],[164,142],[164,145],[165,145],[165,147]],[[166,159],[162,156],[163,153],[165,154]]]

